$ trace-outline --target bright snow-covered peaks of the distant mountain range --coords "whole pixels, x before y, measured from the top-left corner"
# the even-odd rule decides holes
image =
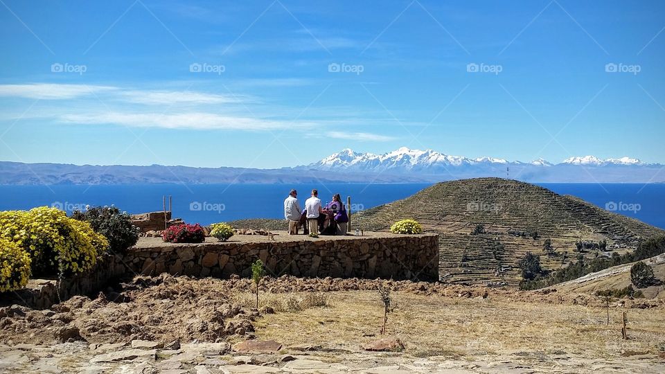
[[[452,156],[434,150],[411,150],[406,147],[384,154],[354,152],[344,149],[342,152],[331,154],[319,162],[308,165],[308,168],[317,170],[354,170],[354,171],[407,171],[407,172],[436,172],[441,168],[497,168],[510,166],[535,166],[550,168],[552,166],[645,166],[639,159],[621,157],[620,159],[598,159],[594,156],[570,157],[561,163],[554,164],[544,159],[531,162],[506,161],[495,157],[468,157]]]

